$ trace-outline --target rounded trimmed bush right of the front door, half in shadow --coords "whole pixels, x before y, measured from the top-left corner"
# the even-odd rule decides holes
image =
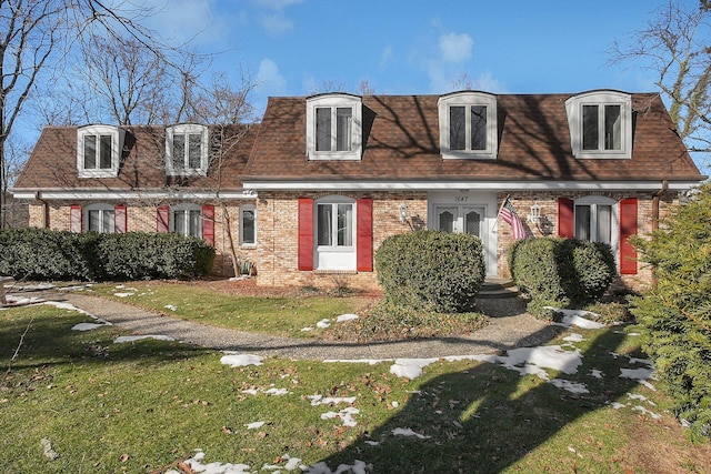
[[[549,317],[544,306],[594,303],[617,274],[610,245],[574,239],[524,239],[509,251],[514,283],[531,296],[529,312]]]

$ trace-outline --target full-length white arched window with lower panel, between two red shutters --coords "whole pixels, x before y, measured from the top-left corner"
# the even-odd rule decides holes
[[[356,270],[356,202],[346,196],[316,201],[317,270]]]

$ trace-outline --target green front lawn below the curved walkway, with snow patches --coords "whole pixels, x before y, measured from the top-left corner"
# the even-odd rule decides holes
[[[177,297],[166,301],[180,307]],[[48,305],[0,310],[0,471],[162,473],[202,450],[203,464],[253,473],[284,472],[290,457],[333,471],[361,460],[375,473],[710,472],[710,446],[687,442],[661,383],[619,376],[647,367],[630,359],[644,357],[633,327],[573,329],[550,342],[580,352],[574,373],[547,370],[589,391],[575,394],[471,360],[433,362],[411,381],[391,361],[231,367],[220,352],[173,342],[114,344],[126,334],[116,326],[72,331],[90,321]],[[582,341],[562,340],[571,333]],[[313,405],[312,395],[356,400]],[[354,426],[346,409],[358,410]]]

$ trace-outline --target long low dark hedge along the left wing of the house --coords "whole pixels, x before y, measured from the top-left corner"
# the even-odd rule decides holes
[[[30,280],[136,280],[200,276],[214,249],[174,233],[99,234],[47,229],[0,231],[0,274]]]

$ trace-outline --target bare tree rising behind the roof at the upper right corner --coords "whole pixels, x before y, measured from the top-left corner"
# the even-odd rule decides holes
[[[635,62],[652,70],[671,101],[678,133],[692,152],[711,151],[711,9],[669,0],[629,43],[614,42],[612,63]]]

